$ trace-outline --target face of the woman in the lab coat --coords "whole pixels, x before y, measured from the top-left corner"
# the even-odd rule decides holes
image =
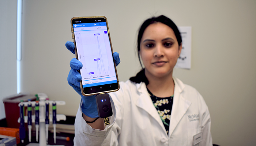
[[[160,22],[150,24],[140,42],[145,74],[154,77],[172,75],[181,49],[172,28]]]

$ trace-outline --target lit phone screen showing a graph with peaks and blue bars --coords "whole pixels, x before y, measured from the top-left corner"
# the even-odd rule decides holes
[[[107,28],[100,23],[93,25],[74,28],[78,59],[83,64],[83,87],[117,82]]]

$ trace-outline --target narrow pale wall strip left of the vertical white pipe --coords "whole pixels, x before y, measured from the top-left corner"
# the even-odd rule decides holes
[[[5,118],[4,97],[17,93],[17,0],[0,1],[0,120]]]

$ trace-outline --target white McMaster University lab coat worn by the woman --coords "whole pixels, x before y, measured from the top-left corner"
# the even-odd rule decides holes
[[[173,107],[167,135],[144,82],[120,82],[120,90],[109,93],[113,115],[105,130],[90,127],[80,107],[75,119],[74,145],[181,146],[193,145],[193,136],[202,132],[196,145],[212,145],[208,107],[193,87],[174,80]]]

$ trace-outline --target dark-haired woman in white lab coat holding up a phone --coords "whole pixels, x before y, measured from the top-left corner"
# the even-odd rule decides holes
[[[74,44],[66,46],[74,52]],[[147,19],[138,34],[138,55],[145,66],[135,77],[109,93],[110,125],[98,119],[94,97],[82,97],[75,121],[75,145],[212,145],[211,119],[195,88],[173,77],[181,53],[177,26],[161,15]],[[118,54],[114,53],[116,64]],[[69,84],[81,95],[77,69],[71,60]]]

